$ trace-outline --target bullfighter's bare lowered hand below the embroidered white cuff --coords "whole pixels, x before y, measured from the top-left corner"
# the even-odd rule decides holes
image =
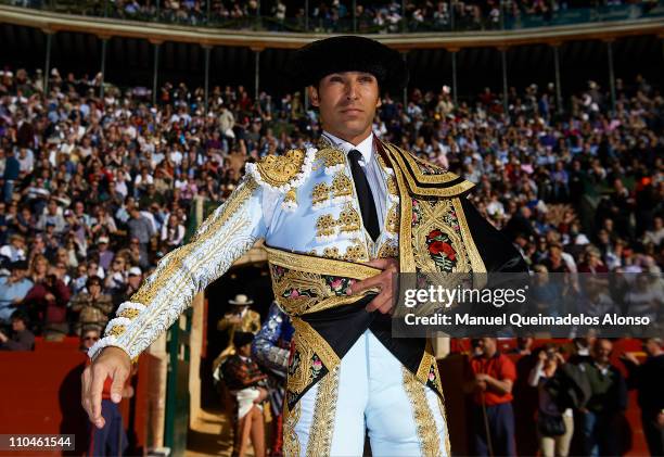
[[[111,399],[119,403],[123,399],[125,381],[131,371],[129,355],[119,347],[108,346],[102,350],[94,361],[86,367],[81,377],[81,403],[88,412],[90,421],[98,429],[104,427],[101,415],[101,401],[104,382],[107,377],[113,379]]]

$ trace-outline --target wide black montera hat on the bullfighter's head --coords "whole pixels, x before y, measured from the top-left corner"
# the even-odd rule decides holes
[[[370,38],[346,35],[314,41],[297,50],[288,68],[289,90],[316,86],[336,72],[371,73],[383,93],[397,93],[408,84],[408,67],[398,51]]]

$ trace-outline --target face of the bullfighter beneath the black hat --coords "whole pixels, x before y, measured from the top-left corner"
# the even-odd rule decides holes
[[[332,73],[309,88],[323,128],[344,140],[363,139],[371,131],[375,109],[381,105],[375,76],[362,72]]]

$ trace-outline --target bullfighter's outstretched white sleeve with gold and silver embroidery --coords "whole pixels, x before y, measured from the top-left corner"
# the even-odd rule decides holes
[[[136,358],[190,306],[193,297],[224,275],[235,259],[264,237],[264,193],[245,176],[226,203],[199,228],[192,241],[169,252],[136,294],[123,303],[104,338],[88,352],[94,358],[105,346]]]

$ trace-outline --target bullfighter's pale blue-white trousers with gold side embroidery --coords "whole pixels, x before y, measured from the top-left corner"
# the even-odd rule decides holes
[[[358,457],[366,430],[374,457],[450,457],[443,402],[369,330],[290,411],[284,455]]]

